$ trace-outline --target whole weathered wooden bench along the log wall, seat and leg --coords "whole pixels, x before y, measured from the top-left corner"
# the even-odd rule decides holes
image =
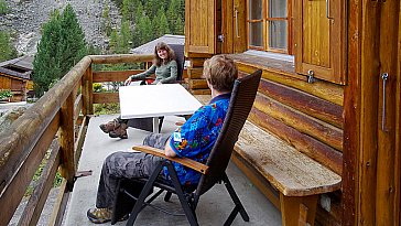
[[[282,225],[314,225],[318,195],[340,189],[338,174],[249,121],[231,159],[248,177],[254,177],[256,170],[261,175],[257,180],[265,179],[277,189],[280,203],[273,204],[281,209]],[[256,185],[265,190],[260,187],[264,184]]]

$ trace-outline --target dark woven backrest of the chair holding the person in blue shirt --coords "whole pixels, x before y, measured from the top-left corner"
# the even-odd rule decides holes
[[[252,108],[261,74],[262,71],[258,69],[251,75],[236,80],[220,134],[206,162],[209,169],[207,173],[203,174],[201,177],[196,191],[197,195],[208,191],[225,175],[234,146],[237,142],[239,132]]]

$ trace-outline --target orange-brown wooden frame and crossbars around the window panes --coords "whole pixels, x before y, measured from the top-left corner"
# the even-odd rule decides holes
[[[286,18],[270,18],[268,17],[268,9],[269,9],[269,0],[261,0],[262,1],[262,19],[253,19],[250,20],[249,13],[249,2],[252,0],[247,0],[247,15],[246,15],[246,23],[247,23],[247,49],[248,50],[257,50],[257,51],[264,51],[264,52],[272,52],[272,53],[283,53],[293,55],[294,54],[294,35],[293,35],[293,2],[292,0],[286,0]],[[269,46],[269,25],[270,21],[286,21],[286,43],[288,47],[285,49],[272,49]],[[256,46],[250,44],[250,24],[262,22],[262,46]]]

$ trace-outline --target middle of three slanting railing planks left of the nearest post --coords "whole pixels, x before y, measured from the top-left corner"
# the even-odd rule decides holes
[[[47,200],[51,189],[53,187],[53,181],[59,163],[61,152],[57,140],[53,140],[51,150],[51,154],[46,160],[46,164],[43,168],[37,185],[28,201],[18,225],[36,225],[41,217],[43,206]]]

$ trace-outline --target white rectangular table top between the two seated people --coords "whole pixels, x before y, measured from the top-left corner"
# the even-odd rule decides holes
[[[191,115],[202,104],[180,84],[121,86],[122,119]]]

